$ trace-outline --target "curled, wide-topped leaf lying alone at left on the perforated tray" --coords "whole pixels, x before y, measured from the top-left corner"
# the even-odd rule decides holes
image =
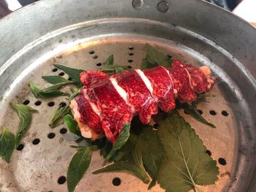
[[[18,146],[20,139],[23,137],[23,134],[29,129],[32,120],[32,114],[37,112],[33,108],[24,105],[24,104],[13,104],[12,107],[18,112],[18,118],[20,120],[20,128],[16,134],[15,145]]]

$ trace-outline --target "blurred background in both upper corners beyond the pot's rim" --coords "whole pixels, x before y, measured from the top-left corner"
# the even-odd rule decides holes
[[[39,0],[0,0],[0,19]],[[146,0],[145,0],[146,1]],[[256,0],[206,0],[227,9],[256,26]]]

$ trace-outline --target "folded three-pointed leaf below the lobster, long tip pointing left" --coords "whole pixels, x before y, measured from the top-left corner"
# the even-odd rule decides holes
[[[93,172],[93,174],[99,174],[102,172],[129,172],[130,174],[140,178],[140,180],[142,180],[144,183],[148,183],[148,175],[143,167],[140,139],[132,151],[132,159],[116,161],[115,163],[105,166],[102,169],[98,169],[97,171]]]

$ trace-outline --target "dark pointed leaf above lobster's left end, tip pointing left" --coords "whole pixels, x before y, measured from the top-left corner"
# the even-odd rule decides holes
[[[83,83],[80,81],[80,73],[84,72],[82,69],[73,69],[59,64],[54,64],[54,66],[67,73],[75,85],[79,87],[83,86]]]

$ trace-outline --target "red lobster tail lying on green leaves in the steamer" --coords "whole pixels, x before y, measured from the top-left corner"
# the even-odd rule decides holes
[[[109,76],[104,72],[80,74],[84,86],[70,107],[83,137],[97,139],[104,134],[116,142],[124,123],[138,115],[148,123],[158,107],[167,112],[175,99],[195,101],[197,93],[208,92],[215,83],[207,66],[197,68],[174,60],[170,68],[135,69]]]

